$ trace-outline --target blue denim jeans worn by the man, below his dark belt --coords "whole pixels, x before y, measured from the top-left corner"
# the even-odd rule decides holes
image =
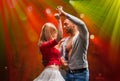
[[[65,81],[89,81],[89,70],[80,73],[66,73]]]

